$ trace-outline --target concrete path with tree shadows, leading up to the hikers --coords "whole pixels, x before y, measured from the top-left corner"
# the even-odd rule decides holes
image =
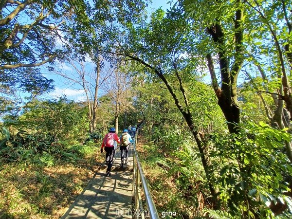
[[[122,168],[121,151],[118,147],[111,176],[106,177],[107,166],[103,164],[61,219],[131,219],[132,149],[131,147],[128,152],[128,164]]]

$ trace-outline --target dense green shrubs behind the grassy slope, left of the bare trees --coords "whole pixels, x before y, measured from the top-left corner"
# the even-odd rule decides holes
[[[34,101],[25,108],[19,120],[25,123],[26,129],[51,135],[54,140],[82,141],[88,131],[86,108],[66,97]]]

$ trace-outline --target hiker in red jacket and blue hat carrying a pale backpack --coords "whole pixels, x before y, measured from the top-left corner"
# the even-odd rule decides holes
[[[106,176],[110,176],[110,169],[112,166],[117,143],[120,143],[119,136],[115,133],[115,128],[110,128],[110,132],[104,137],[100,149],[101,153],[103,152],[103,148],[105,148],[106,151],[106,162],[108,163]]]

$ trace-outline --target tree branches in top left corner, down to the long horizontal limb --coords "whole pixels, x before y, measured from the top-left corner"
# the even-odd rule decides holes
[[[83,0],[1,1],[0,70],[37,67],[61,57],[57,39],[63,41],[66,22],[85,14]]]

